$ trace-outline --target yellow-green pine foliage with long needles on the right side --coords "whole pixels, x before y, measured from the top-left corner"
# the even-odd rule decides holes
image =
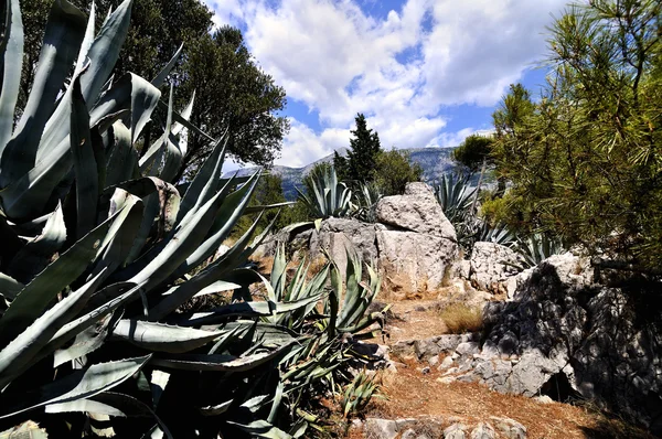
[[[662,263],[661,12],[659,1],[595,0],[555,22],[541,101],[512,86],[494,114],[516,225]]]

